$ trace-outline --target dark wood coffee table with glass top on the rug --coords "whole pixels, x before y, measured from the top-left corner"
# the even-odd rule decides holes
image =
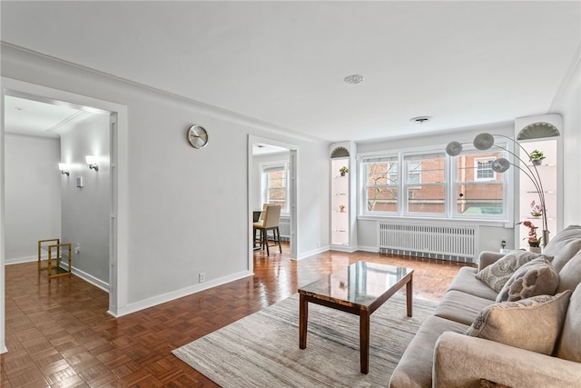
[[[299,288],[299,347],[307,347],[309,303],[359,315],[361,373],[369,373],[369,317],[391,295],[406,285],[411,316],[414,270],[394,265],[357,262]],[[332,324],[332,322],[330,322]]]

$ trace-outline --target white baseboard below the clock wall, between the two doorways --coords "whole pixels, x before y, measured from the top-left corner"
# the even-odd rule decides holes
[[[250,271],[242,271],[238,274],[231,274],[229,276],[224,276],[219,279],[214,279],[205,283],[195,284],[190,287],[182,288],[181,290],[172,291],[171,293],[164,293],[162,295],[154,296],[153,298],[144,299],[143,301],[129,303],[126,306],[119,307],[117,309],[116,314],[113,314],[112,312],[108,313],[112,314],[114,317],[120,317],[123,315],[127,315],[128,313],[135,313],[158,304],[170,302],[172,300],[182,298],[183,296],[191,295],[192,293],[199,293],[201,291],[208,290],[217,285],[227,284],[235,280],[243,279],[245,277],[252,275],[253,274]]]

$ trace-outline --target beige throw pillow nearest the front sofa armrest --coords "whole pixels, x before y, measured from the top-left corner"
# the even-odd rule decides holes
[[[571,291],[485,307],[468,335],[550,355],[565,321]]]

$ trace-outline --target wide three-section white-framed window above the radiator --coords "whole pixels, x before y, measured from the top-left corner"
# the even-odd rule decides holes
[[[431,151],[362,156],[362,214],[506,221],[507,174],[491,167],[504,151]]]

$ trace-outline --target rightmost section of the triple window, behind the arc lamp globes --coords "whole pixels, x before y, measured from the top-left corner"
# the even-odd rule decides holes
[[[502,153],[464,152],[456,157],[455,214],[493,217],[504,214],[504,176],[492,162]]]

